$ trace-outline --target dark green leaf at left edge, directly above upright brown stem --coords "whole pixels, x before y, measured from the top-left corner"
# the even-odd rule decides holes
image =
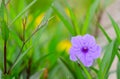
[[[0,27],[1,27],[1,32],[2,32],[2,38],[3,38],[3,40],[7,41],[8,37],[9,37],[9,29],[8,29],[8,26],[7,26],[6,22],[2,21],[0,23]]]

